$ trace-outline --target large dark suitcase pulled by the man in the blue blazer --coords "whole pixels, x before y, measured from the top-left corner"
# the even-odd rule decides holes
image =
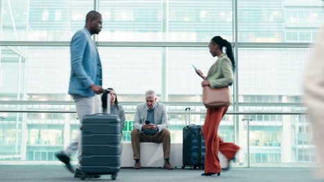
[[[82,122],[81,166],[87,175],[111,174],[115,180],[120,170],[120,119],[110,115],[110,92],[107,94],[109,114],[87,115]]]

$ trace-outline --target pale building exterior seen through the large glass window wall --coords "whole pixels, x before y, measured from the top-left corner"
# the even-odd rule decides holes
[[[0,41],[70,41],[93,6],[93,0],[1,1]],[[98,46],[103,86],[116,90],[127,112],[123,142],[130,142],[136,104],[145,101],[149,89],[168,108],[172,143],[182,143],[186,107],[194,112],[191,123],[204,124],[201,79],[190,64],[207,72],[215,61],[208,52],[208,41],[215,35],[235,41],[233,26],[237,26],[239,44],[233,44],[238,64],[232,89],[238,95],[229,111],[304,112],[300,77],[309,48],[289,47],[289,43],[316,39],[322,6],[316,0],[239,0],[235,22],[232,1],[99,0],[103,29],[98,45],[206,43],[206,47]],[[75,111],[67,94],[69,46],[54,43],[0,47],[1,110]],[[282,47],[253,43],[282,43]],[[247,121],[242,121],[248,118],[249,130]],[[247,160],[254,165],[313,163],[310,130],[304,114],[226,114],[219,129],[226,141],[242,146],[243,165]],[[55,161],[54,152],[73,141],[78,131],[73,113],[0,112],[0,160]]]

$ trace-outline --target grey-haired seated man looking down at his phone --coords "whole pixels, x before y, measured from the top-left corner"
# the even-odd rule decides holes
[[[168,115],[165,106],[156,101],[153,90],[145,92],[145,103],[137,105],[132,130],[132,147],[134,152],[134,169],[141,168],[140,143],[163,143],[164,168],[173,170],[170,165],[170,132],[168,129]],[[150,123],[149,123],[150,121]],[[146,123],[145,123],[146,122]]]

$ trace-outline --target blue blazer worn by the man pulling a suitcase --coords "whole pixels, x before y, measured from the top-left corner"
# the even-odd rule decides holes
[[[92,84],[102,85],[102,68],[96,45],[87,28],[76,32],[71,40],[71,76],[69,94],[93,97]]]

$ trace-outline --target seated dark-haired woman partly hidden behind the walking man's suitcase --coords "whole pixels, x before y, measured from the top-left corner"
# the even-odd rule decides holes
[[[111,95],[110,113],[117,115],[120,118],[120,132],[122,132],[123,129],[125,128],[125,111],[123,105],[120,105],[118,103],[117,94],[114,89],[107,88],[107,90],[110,90],[110,95]],[[102,111],[105,112],[105,110],[107,110],[107,94],[102,94],[101,101],[102,101]]]

